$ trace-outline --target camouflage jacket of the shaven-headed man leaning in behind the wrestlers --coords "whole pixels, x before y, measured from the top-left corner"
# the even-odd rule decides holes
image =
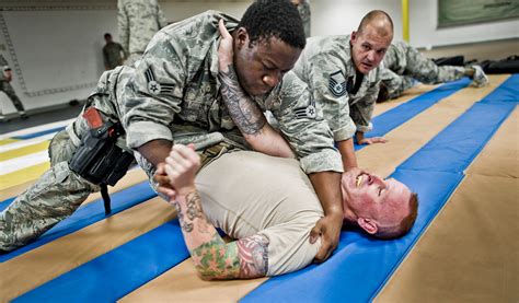
[[[315,102],[335,141],[351,138],[356,130],[369,131],[374,102],[379,93],[380,70],[365,74],[356,93],[357,72],[351,59],[349,35],[307,39],[307,47],[293,69],[310,86]]]

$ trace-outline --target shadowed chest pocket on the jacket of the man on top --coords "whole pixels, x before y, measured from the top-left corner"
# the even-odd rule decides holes
[[[209,113],[217,98],[216,79],[201,68],[189,82],[184,93],[182,116],[187,121],[207,128]]]

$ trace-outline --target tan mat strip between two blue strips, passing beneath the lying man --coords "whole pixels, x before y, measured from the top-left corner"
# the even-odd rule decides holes
[[[388,143],[374,144],[357,152],[359,165],[368,171],[377,172],[381,176],[388,176],[402,161],[415,153],[474,102],[494,91],[508,77],[491,75],[491,85],[477,90],[464,89],[442,100],[388,133]],[[162,295],[160,300],[164,302],[176,302],[177,298],[189,301],[211,301],[218,293],[218,298],[223,298],[222,301],[237,302],[265,280],[263,278],[232,282],[204,281],[196,277],[193,261],[187,259],[130,292],[123,298],[123,301],[153,301],[153,299],[158,299],[157,293]]]

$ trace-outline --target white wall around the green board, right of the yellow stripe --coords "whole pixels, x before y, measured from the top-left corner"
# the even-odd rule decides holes
[[[410,1],[412,45],[428,47],[519,37],[519,19],[437,28],[437,0]],[[515,51],[517,54],[519,49]]]

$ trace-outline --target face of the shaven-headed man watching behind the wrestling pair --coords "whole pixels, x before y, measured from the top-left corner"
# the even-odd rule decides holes
[[[367,74],[378,67],[384,58],[392,39],[392,35],[379,35],[377,30],[369,24],[361,33],[353,32],[350,43],[355,68],[359,72]]]

